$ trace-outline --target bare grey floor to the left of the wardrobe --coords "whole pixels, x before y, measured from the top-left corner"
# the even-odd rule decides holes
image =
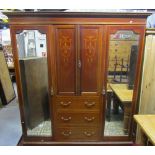
[[[16,91],[16,85],[14,84]],[[16,146],[21,138],[18,98],[0,106],[0,146]]]

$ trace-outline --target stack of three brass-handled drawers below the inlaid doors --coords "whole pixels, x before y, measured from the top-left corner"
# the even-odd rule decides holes
[[[102,134],[101,97],[63,96],[56,97],[53,103],[55,103],[54,139],[56,141],[80,141],[82,139],[92,141],[100,139]],[[85,131],[85,128],[88,132]]]

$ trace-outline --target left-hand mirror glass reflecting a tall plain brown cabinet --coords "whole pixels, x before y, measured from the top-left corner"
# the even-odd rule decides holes
[[[46,34],[24,30],[16,41],[27,135],[51,136]]]

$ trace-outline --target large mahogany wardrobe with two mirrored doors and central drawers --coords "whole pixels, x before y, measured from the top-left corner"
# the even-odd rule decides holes
[[[9,17],[16,68],[23,130],[22,144],[131,145],[135,138],[132,116],[136,113],[145,22],[149,14],[103,12],[6,14]],[[128,52],[133,49],[137,51],[137,59],[134,67],[136,69],[132,100],[130,103],[123,102],[118,108],[121,111],[122,122],[125,121],[121,132],[126,133],[109,135],[106,134],[105,128],[110,121],[106,124],[105,120],[108,112],[108,117],[113,115],[111,109],[115,106],[111,104],[115,100],[111,99],[116,95],[112,89],[109,90],[109,87],[111,83],[122,84],[122,81],[125,87],[127,86],[126,77],[128,69],[130,70]],[[119,58],[116,57],[116,53]],[[46,59],[44,64],[38,57]],[[22,74],[23,68],[20,62],[30,64],[27,66],[27,73]],[[29,87],[24,87],[22,77],[28,75],[32,78],[28,78]],[[31,87],[35,88],[33,92],[27,91],[32,90]],[[27,98],[31,96],[31,100],[29,98],[25,100],[25,93]],[[40,93],[42,95],[37,95]],[[42,111],[38,109],[41,107]],[[108,109],[109,107],[111,109]],[[31,126],[28,117],[33,117]],[[115,130],[115,126],[112,128]]]

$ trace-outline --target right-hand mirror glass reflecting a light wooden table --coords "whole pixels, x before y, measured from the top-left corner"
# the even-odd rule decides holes
[[[120,30],[110,35],[105,136],[125,136],[129,133],[129,119],[139,35]]]

